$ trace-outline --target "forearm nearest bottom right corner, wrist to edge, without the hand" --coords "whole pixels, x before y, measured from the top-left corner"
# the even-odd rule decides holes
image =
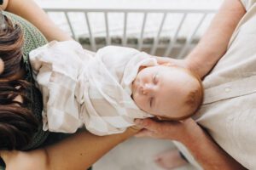
[[[193,132],[193,134],[189,135],[189,138],[183,139],[181,142],[186,145],[203,169],[246,169],[222,150],[201,127],[195,126],[193,129],[189,129],[189,132]]]

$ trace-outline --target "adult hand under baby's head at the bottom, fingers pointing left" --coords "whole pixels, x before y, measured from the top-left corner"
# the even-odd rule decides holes
[[[150,118],[137,119],[138,127],[143,129],[136,134],[137,137],[151,137],[155,139],[172,139],[185,143],[195,131],[200,129],[197,123],[189,118],[183,122],[157,122]]]

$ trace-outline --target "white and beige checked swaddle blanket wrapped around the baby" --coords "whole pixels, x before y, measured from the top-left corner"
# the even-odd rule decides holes
[[[156,59],[133,48],[108,46],[96,54],[78,42],[49,42],[30,53],[43,94],[44,130],[74,133],[83,124],[97,135],[123,133],[149,115],[131,99],[140,66]]]

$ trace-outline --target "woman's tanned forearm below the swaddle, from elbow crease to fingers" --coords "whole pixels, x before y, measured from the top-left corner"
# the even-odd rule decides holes
[[[45,148],[47,151],[47,166],[49,170],[76,169],[84,170],[90,167],[108,150],[137,133],[128,129],[125,133],[96,136],[91,133],[79,133],[61,141],[59,144]]]

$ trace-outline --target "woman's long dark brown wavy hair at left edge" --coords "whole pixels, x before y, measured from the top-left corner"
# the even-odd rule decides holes
[[[22,71],[23,32],[0,11],[0,150],[22,150],[38,130],[38,121],[31,111],[31,99],[26,95],[31,83],[15,79]],[[1,64],[1,63],[0,63]],[[22,78],[21,78],[22,79]],[[16,100],[20,97],[22,101]]]

